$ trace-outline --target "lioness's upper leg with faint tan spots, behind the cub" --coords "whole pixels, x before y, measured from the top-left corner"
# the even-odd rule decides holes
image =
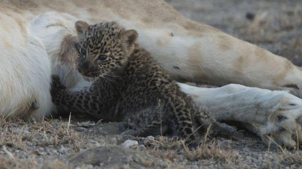
[[[302,89],[300,67],[248,42],[219,31],[209,31],[201,36],[174,33],[170,37],[165,36],[166,32],[159,32],[141,30],[139,33],[143,37],[140,43],[181,82],[217,86],[236,83],[270,90],[290,90],[296,96]],[[165,44],[158,44],[163,37]]]

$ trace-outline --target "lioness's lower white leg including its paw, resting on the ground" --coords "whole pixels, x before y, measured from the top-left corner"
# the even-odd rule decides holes
[[[219,88],[193,87],[179,83],[181,90],[201,106],[209,108],[213,117],[255,125],[262,139],[270,136],[278,144],[293,147],[293,135],[302,140],[302,99],[285,91],[270,91],[238,84]]]

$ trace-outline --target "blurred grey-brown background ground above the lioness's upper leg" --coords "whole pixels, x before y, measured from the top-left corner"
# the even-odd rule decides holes
[[[166,0],[184,16],[302,65],[302,0]]]

